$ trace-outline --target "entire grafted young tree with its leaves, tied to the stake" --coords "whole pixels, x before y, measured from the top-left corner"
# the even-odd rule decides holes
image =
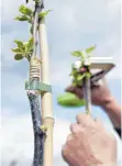
[[[33,0],[35,2],[35,10],[21,5],[19,8],[20,15],[15,18],[18,21],[26,21],[31,24],[31,38],[27,42],[14,41],[18,45],[12,49],[15,53],[15,60],[26,58],[30,63],[30,82],[40,81],[41,62],[37,58],[37,31],[38,22],[46,16],[51,10],[42,12],[44,8],[43,0]],[[30,0],[26,0],[29,3]],[[34,131],[34,158],[33,166],[43,166],[44,155],[44,137],[46,129],[42,125],[41,110],[40,110],[40,93],[38,90],[27,90],[27,97],[31,106],[33,131]],[[49,166],[49,165],[48,165]]]

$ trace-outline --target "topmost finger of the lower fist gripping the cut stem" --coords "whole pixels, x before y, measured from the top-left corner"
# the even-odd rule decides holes
[[[79,113],[79,114],[76,115],[76,120],[77,120],[78,124],[80,124],[84,128],[95,126],[95,121],[88,114]]]

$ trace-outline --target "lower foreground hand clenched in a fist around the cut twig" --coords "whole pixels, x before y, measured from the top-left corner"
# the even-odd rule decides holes
[[[87,114],[78,114],[70,125],[71,134],[62,155],[70,166],[115,166],[117,142],[102,123]]]

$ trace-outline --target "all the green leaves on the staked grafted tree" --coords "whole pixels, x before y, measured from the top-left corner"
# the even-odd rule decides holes
[[[40,0],[33,0],[36,3],[40,2]],[[30,2],[30,0],[25,0],[26,3]],[[38,20],[46,16],[52,10],[47,10],[44,12],[38,13]],[[34,19],[34,11],[23,4],[20,5],[19,12],[21,13],[15,18],[18,21],[26,21],[31,24],[30,33],[33,34],[33,19]],[[38,26],[37,26],[38,29]],[[31,37],[27,42],[23,43],[22,41],[15,40],[14,43],[16,44],[16,48],[13,48],[12,52],[15,54],[14,59],[21,60],[24,57],[30,60],[31,55],[33,53],[33,37]]]

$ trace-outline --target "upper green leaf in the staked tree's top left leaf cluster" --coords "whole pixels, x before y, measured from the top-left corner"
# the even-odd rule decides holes
[[[19,11],[20,11],[22,14],[29,15],[29,16],[31,16],[32,13],[33,13],[33,11],[32,11],[30,8],[26,8],[26,7],[23,5],[23,4],[19,8]]]

